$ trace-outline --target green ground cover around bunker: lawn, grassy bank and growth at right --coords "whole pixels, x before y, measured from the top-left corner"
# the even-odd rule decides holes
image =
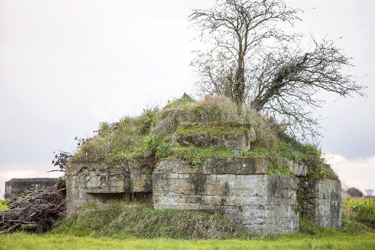
[[[251,236],[217,214],[153,210],[147,203],[110,201],[80,208],[49,232],[0,234],[0,250],[375,249],[374,201],[344,199],[343,208],[340,231],[303,221],[305,233]]]

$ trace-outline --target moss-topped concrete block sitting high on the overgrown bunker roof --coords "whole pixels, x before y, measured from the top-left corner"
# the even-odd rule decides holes
[[[235,124],[237,125],[237,124]],[[194,127],[194,126],[197,126]],[[205,129],[204,126],[207,126]],[[195,124],[185,128],[181,125],[177,129],[176,133],[172,137],[172,143],[181,146],[200,146],[200,147],[224,147],[232,150],[249,150],[250,143],[255,141],[256,135],[252,126],[244,126],[238,124],[233,127],[233,124],[222,124],[219,129],[212,127],[212,124]],[[179,133],[180,129],[186,129],[187,131]],[[233,130],[231,133],[230,131]],[[228,133],[223,133],[223,131]]]

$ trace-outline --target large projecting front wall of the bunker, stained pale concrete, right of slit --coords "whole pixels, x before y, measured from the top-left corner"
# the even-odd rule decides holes
[[[265,174],[267,167],[254,166],[268,166],[263,160],[233,158],[224,165],[207,161],[210,167],[195,170],[180,160],[161,161],[153,174],[154,208],[220,210],[256,234],[298,231],[296,179]]]

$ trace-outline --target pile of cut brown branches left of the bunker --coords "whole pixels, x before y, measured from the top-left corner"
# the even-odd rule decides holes
[[[0,211],[0,234],[51,229],[55,221],[65,214],[64,189],[56,186],[28,189],[8,201],[8,209]]]

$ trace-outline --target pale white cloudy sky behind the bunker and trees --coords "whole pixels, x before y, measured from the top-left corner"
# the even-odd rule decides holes
[[[100,121],[193,93],[190,8],[213,0],[0,0],[0,194],[16,177],[55,177],[53,151]],[[373,0],[287,0],[305,10],[293,30],[328,34],[367,75],[368,98],[317,111],[320,145],[347,186],[375,189]],[[332,154],[335,154],[332,156]]]

